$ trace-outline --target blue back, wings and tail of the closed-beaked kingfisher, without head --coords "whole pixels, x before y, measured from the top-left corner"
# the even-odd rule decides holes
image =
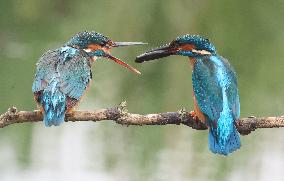
[[[207,116],[210,149],[227,154],[239,148],[234,126],[240,116],[237,78],[229,62],[217,55],[196,59],[192,83],[198,106]]]

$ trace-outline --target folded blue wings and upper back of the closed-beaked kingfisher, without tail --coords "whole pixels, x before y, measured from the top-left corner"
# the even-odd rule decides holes
[[[240,116],[240,105],[235,71],[220,56],[197,59],[192,74],[193,90],[198,105],[210,120],[218,120],[223,110],[224,93],[235,119]]]

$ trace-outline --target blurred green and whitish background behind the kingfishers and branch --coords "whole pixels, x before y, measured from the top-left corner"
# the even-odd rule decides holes
[[[284,115],[284,1],[275,0],[1,0],[0,112],[36,108],[35,64],[75,33],[95,30],[114,41],[149,45],[112,54],[137,76],[105,59],[80,109],[127,100],[135,113],[192,110],[191,67],[185,57],[135,64],[135,56],[178,35],[210,38],[238,74],[241,117]],[[186,126],[65,123],[14,124],[0,130],[0,180],[283,180],[284,129],[241,138],[228,157],[212,154],[207,131]]]

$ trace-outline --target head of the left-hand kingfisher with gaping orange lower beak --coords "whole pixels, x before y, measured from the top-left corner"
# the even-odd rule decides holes
[[[78,48],[84,50],[88,53],[89,56],[93,58],[93,60],[104,57],[114,62],[128,68],[132,72],[137,74],[141,74],[138,70],[123,62],[122,60],[112,56],[110,54],[110,49],[112,47],[120,47],[120,46],[131,46],[131,45],[142,45],[145,43],[142,42],[113,42],[108,37],[97,33],[97,32],[80,32],[73,36],[65,45],[73,48]]]

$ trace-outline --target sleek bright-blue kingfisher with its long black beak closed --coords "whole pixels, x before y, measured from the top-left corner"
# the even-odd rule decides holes
[[[240,148],[235,122],[240,117],[237,76],[228,60],[200,35],[183,35],[171,43],[136,57],[137,63],[170,55],[189,57],[192,71],[194,111],[190,114],[208,126],[209,148],[228,155]]]

